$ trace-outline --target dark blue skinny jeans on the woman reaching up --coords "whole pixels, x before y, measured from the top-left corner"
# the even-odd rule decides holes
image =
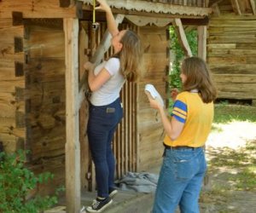
[[[108,190],[113,188],[115,160],[111,143],[121,118],[123,108],[119,98],[106,106],[90,105],[87,135],[95,164],[97,195],[102,198],[108,198]]]

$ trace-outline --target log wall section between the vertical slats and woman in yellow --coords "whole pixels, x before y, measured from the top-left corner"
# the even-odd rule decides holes
[[[158,36],[155,36],[155,34]],[[144,93],[144,87],[146,83],[153,83],[163,98],[166,97],[166,83],[164,79],[166,76],[166,66],[169,62],[166,57],[168,41],[165,40],[165,28],[158,28],[156,32],[153,32],[152,28],[141,27],[140,35],[143,38],[145,37],[143,42],[145,41],[146,43],[144,47],[147,53],[144,55],[144,66],[147,67],[147,72],[144,75],[146,78],[140,79],[140,83],[137,84],[137,135],[139,143],[137,170],[148,170],[148,164],[151,164],[150,167],[152,168],[160,162],[162,138],[158,134],[162,126],[160,119],[155,119],[154,110],[149,106],[148,98]],[[148,47],[148,43],[158,44],[159,46],[156,47],[153,44],[153,46]],[[144,116],[148,110],[150,113],[149,117]]]

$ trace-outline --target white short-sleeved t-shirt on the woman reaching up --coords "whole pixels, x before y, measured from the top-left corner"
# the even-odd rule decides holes
[[[125,78],[119,72],[120,60],[118,58],[110,58],[103,61],[102,64],[96,66],[94,74],[97,75],[105,68],[111,77],[100,89],[97,89],[90,96],[90,103],[94,106],[104,106],[112,103],[119,98],[119,92],[125,83]]]

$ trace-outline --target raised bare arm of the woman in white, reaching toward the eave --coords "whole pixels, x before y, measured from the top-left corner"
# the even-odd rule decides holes
[[[119,33],[119,29],[117,24],[115,23],[115,20],[113,18],[113,13],[108,3],[106,2],[106,0],[97,0],[97,2],[100,3],[100,5],[96,7],[96,9],[102,9],[103,11],[106,12],[108,32],[110,32],[112,36],[117,35]]]

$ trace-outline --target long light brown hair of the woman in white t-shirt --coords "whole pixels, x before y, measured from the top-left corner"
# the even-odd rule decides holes
[[[139,67],[143,56],[141,39],[136,32],[126,30],[120,42],[123,43],[123,48],[118,54],[120,72],[128,81],[134,82],[138,78]]]

